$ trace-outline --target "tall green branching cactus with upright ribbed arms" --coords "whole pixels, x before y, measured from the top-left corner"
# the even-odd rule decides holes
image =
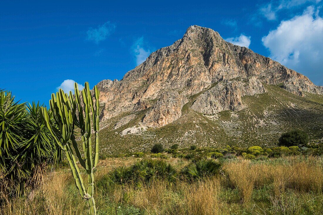
[[[82,97],[80,97],[77,83],[75,83],[74,88],[75,97],[71,91],[68,95],[60,89],[56,95],[54,93],[52,94],[52,98],[49,101],[50,110],[53,112],[58,128],[49,120],[45,108],[42,109],[42,116],[57,144],[65,151],[79,194],[82,199],[88,202],[89,214],[93,215],[96,214],[95,201],[93,198],[93,169],[98,164],[99,158],[99,90],[97,86],[94,86],[94,106],[88,82],[85,83],[85,87],[82,90]],[[94,160],[92,159],[92,125],[95,133]],[[77,128],[79,128],[83,142],[84,159],[76,142],[77,135],[75,130]],[[87,190],[84,186],[80,170],[78,169],[73,149],[80,165],[86,169],[89,182]]]

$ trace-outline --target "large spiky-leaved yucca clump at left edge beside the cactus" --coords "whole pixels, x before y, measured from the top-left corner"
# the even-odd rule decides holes
[[[21,196],[35,189],[47,164],[61,160],[61,150],[40,118],[40,107],[27,107],[15,102],[11,92],[0,91],[1,196]]]

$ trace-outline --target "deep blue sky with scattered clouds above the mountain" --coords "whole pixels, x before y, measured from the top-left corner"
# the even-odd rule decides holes
[[[0,88],[48,104],[57,87],[121,79],[191,25],[323,85],[323,0],[3,1]]]

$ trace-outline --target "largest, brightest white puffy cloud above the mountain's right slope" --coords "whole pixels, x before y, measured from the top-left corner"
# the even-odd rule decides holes
[[[282,21],[279,26],[262,38],[274,60],[323,80],[323,18],[313,6],[302,15]]]

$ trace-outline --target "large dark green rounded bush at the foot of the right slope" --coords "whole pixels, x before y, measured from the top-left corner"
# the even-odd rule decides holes
[[[279,138],[279,146],[308,146],[308,135],[299,129],[283,133]]]

